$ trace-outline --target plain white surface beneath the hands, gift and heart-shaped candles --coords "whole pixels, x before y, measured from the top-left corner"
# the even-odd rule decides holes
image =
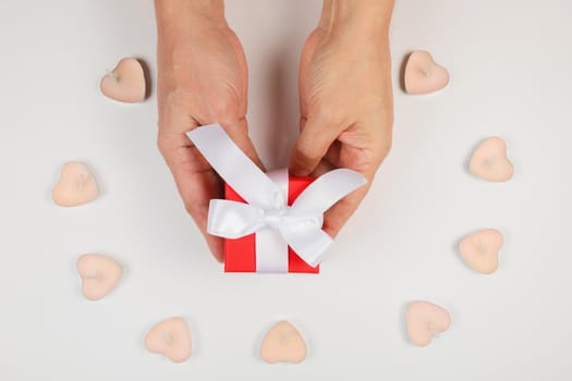
[[[297,126],[296,65],[319,1],[228,1],[251,67],[252,135],[269,167]],[[207,254],[156,149],[156,98],[120,105],[98,81],[124,56],[155,69],[151,1],[0,2],[1,380],[570,380],[572,378],[572,24],[569,1],[398,1],[393,77],[411,50],[450,70],[443,91],[395,88],[395,133],[375,188],[319,276],[229,275]],[[282,128],[285,143],[275,139]],[[500,135],[514,179],[466,163]],[[50,200],[61,164],[85,161],[102,188],[74,209]],[[497,228],[497,273],[471,271],[455,242]],[[125,268],[109,297],[82,297],[75,260]],[[404,306],[450,309],[426,348],[405,340]],[[182,315],[194,354],[145,352],[145,332]],[[300,366],[256,357],[289,318]],[[236,377],[235,377],[236,376]]]

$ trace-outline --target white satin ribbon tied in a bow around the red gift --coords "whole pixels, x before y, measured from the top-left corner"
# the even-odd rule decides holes
[[[197,127],[188,138],[246,202],[211,199],[207,231],[224,238],[256,233],[256,271],[288,272],[288,245],[309,266],[322,259],[332,238],[321,230],[324,212],[366,183],[358,172],[338,169],[309,184],[288,206],[288,170],[268,175],[219,124]]]

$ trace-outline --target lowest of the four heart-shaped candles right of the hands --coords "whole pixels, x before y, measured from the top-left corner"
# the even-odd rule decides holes
[[[451,316],[440,306],[416,300],[407,306],[406,324],[411,342],[417,346],[426,346],[436,334],[449,329]]]

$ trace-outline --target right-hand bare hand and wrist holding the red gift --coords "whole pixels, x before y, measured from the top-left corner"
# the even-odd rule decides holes
[[[393,105],[388,27],[392,1],[326,0],[300,62],[301,135],[290,170],[318,176],[336,168],[361,172],[368,185],[325,214],[336,236],[365,197],[391,146]]]

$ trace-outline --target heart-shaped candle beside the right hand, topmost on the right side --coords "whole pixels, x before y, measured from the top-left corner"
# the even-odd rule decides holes
[[[449,73],[427,51],[414,51],[405,63],[403,82],[409,94],[434,93],[449,84]]]

